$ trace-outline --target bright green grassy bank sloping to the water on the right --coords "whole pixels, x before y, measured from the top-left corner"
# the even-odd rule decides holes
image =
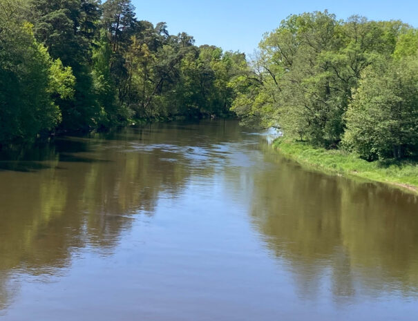
[[[283,138],[276,139],[274,148],[303,166],[327,173],[355,175],[418,193],[417,162],[366,162],[357,155],[341,150],[315,148],[303,142],[292,142]]]

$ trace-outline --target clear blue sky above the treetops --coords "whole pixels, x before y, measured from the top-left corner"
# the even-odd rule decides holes
[[[418,27],[418,0],[133,0],[137,17],[165,21],[169,32],[187,32],[198,46],[252,53],[264,32],[289,14],[325,10],[346,19],[360,14],[373,20],[401,19]]]

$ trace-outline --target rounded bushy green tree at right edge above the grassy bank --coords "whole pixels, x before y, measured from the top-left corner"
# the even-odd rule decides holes
[[[367,68],[345,117],[343,143],[361,157],[399,159],[416,153],[418,59]]]

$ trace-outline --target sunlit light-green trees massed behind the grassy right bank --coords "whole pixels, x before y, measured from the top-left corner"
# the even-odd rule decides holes
[[[368,160],[418,153],[418,30],[401,21],[292,15],[231,86],[247,123]]]

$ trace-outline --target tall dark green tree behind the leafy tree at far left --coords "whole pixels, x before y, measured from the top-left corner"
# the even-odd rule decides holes
[[[91,44],[99,17],[93,0],[32,0],[35,37],[48,48],[53,59],[70,66],[76,77],[74,99],[62,99],[61,128],[88,130],[96,126],[99,106],[91,75]]]

